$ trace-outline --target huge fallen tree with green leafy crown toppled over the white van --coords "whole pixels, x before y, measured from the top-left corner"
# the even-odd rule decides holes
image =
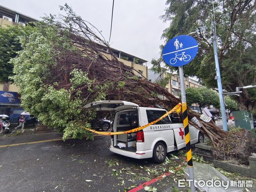
[[[13,80],[20,87],[22,106],[67,137],[82,138],[95,111],[82,108],[96,100],[125,100],[140,106],[172,109],[180,102],[165,88],[140,77],[139,71],[120,62],[108,42],[69,6],[67,16],[46,17],[33,23],[34,32],[21,36],[23,50],[12,60]],[[227,133],[189,110],[189,120],[201,122],[200,131],[217,148]]]

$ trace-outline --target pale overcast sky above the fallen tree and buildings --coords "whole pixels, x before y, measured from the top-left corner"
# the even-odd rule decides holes
[[[89,21],[109,39],[113,0],[1,0],[0,5],[36,19],[57,14],[59,5],[68,3],[84,20]],[[161,35],[169,23],[160,16],[165,0],[115,0],[111,47],[151,61],[160,57]]]

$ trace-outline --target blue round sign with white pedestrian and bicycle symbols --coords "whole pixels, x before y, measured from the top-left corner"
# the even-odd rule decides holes
[[[163,60],[174,67],[188,64],[198,52],[197,41],[188,35],[179,35],[167,42],[163,48]]]

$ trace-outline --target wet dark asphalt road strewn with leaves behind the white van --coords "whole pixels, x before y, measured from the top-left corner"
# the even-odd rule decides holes
[[[156,170],[166,172],[151,160],[113,154],[109,136],[60,138],[58,133],[0,138],[0,191],[122,192],[144,183],[145,177],[154,178]],[[44,140],[51,141],[38,143]],[[153,186],[164,191],[177,185],[172,176]]]

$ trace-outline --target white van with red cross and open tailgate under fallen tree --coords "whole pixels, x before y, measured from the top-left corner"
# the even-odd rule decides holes
[[[145,108],[132,102],[125,101],[98,101],[84,106],[96,108],[99,111],[114,111],[111,131],[128,131],[146,125],[159,119],[167,111],[159,108]],[[172,115],[171,115],[172,116]],[[177,120],[178,119],[178,120]],[[136,159],[152,158],[157,163],[163,163],[166,154],[184,148],[185,133],[183,123],[179,118],[165,117],[154,125],[143,130],[111,136],[110,151]],[[204,141],[204,135],[189,125],[190,143]]]

